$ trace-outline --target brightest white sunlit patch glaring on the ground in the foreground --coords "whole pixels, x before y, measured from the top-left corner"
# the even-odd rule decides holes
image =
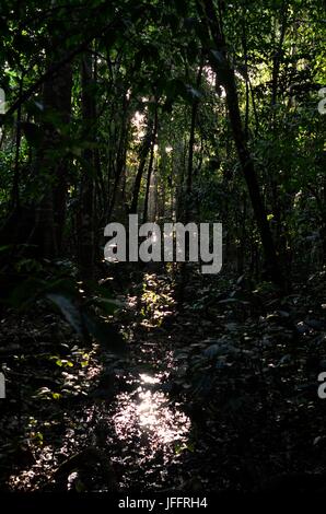
[[[140,374],[136,390],[117,397],[112,418],[115,436],[126,448],[126,464],[132,463],[126,468],[121,488],[128,488],[136,479],[140,487],[144,481],[147,487],[162,487],[166,466],[178,458],[176,448],[187,442],[189,418],[172,406],[159,388],[160,375]],[[127,454],[131,447],[132,456]]]

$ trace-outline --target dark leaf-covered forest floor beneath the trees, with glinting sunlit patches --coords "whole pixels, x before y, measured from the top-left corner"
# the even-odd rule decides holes
[[[256,491],[326,471],[325,272],[268,283],[188,271],[113,277],[127,357],[46,302],[5,311],[0,491]],[[304,486],[303,486],[304,488]]]

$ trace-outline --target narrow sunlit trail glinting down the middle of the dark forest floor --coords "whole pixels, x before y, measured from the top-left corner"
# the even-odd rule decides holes
[[[119,322],[124,326],[127,315],[130,353],[124,363],[100,351],[102,373],[89,417],[95,440],[105,444],[120,490],[184,489],[196,482],[191,419],[185,402],[170,395],[170,379],[174,376],[178,382],[178,352],[200,344],[199,326],[196,334],[194,319],[178,313],[175,284],[168,276],[144,273],[141,284],[120,300],[126,311]],[[112,388],[117,394],[106,404]]]

